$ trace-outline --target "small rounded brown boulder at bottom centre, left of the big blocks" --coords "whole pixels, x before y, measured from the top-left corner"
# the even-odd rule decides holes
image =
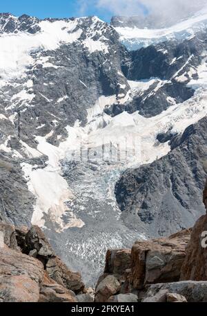
[[[121,286],[117,278],[113,275],[108,275],[103,279],[95,290],[95,301],[106,302],[108,299],[117,294]]]

